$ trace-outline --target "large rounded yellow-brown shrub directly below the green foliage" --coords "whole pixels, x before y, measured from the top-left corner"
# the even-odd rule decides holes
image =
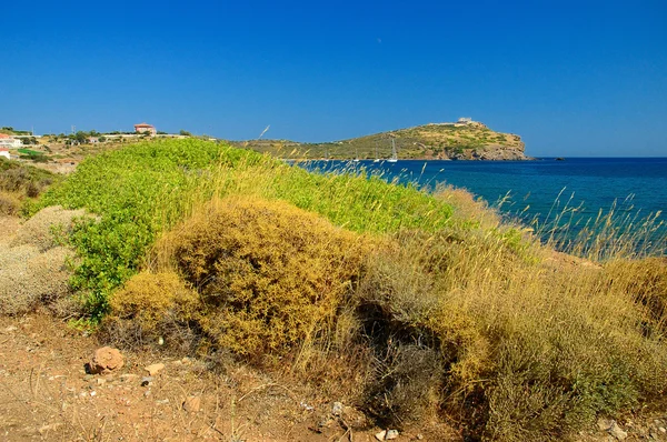
[[[358,234],[257,198],[215,200],[156,248],[201,294],[208,335],[248,356],[332,339],[365,250]]]

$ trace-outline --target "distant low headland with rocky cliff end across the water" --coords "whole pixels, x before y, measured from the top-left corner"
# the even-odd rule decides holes
[[[268,152],[280,158],[360,160],[391,157],[391,139],[398,158],[440,160],[529,160],[519,135],[496,132],[484,123],[459,120],[352,138],[301,143],[289,140],[230,141],[232,145]]]

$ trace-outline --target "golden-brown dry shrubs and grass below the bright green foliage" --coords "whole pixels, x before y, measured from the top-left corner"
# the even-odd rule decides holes
[[[664,260],[565,259],[466,192],[439,198],[449,227],[372,239],[285,202],[213,200],[112,305],[153,340],[187,328],[200,354],[281,361],[398,428],[447,416],[471,438],[559,440],[661,403]]]

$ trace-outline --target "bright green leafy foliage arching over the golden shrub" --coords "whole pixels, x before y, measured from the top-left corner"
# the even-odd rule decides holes
[[[442,227],[451,208],[380,179],[318,175],[258,153],[195,139],[129,145],[83,161],[40,207],[86,208],[101,217],[72,233],[81,263],[72,283],[99,319],[109,293],[133,275],[157,234],[213,194],[282,199],[356,231]],[[39,207],[33,208],[37,210]]]

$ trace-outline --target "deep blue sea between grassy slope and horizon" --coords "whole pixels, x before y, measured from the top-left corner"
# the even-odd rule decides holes
[[[618,234],[647,229],[644,245],[667,237],[667,158],[312,161],[306,168],[372,173],[428,191],[464,188],[542,235],[560,229],[571,240],[601,215],[618,224]]]

